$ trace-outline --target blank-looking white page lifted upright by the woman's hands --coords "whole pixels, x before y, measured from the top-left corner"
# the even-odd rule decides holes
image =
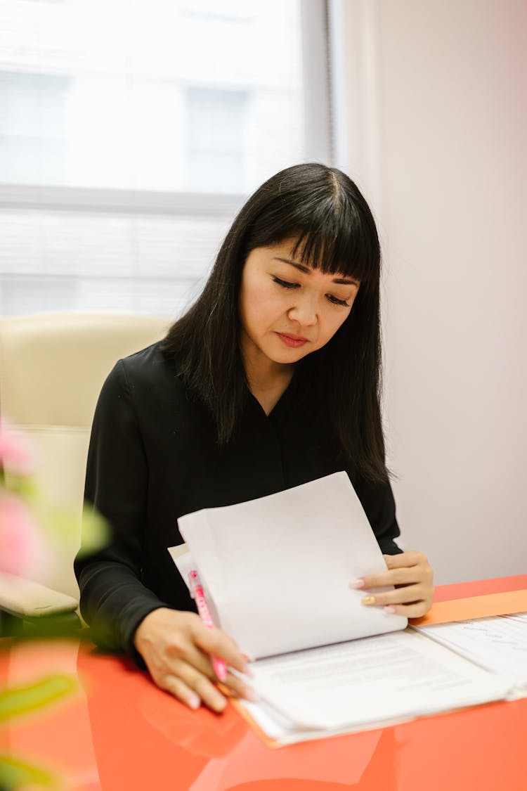
[[[179,519],[219,625],[253,657],[405,628],[360,603],[356,577],[386,570],[345,472]]]

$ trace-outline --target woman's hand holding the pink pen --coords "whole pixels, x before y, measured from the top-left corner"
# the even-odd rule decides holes
[[[194,612],[168,607],[152,610],[137,626],[134,645],[157,686],[190,709],[198,709],[203,702],[213,711],[224,710],[227,701],[215,686],[218,679],[211,657],[225,660],[239,672],[248,669],[235,642],[220,629],[208,629]],[[255,697],[250,687],[230,672],[222,683],[239,698]]]

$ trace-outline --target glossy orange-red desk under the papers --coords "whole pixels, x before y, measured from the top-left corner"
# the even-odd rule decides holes
[[[446,585],[436,600],[525,587]],[[0,751],[58,770],[61,791],[527,791],[527,699],[270,750],[231,706],[192,713],[122,657],[3,641],[2,687],[57,670],[77,674],[77,693],[0,729]]]

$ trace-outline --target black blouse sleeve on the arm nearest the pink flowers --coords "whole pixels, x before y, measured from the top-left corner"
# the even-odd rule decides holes
[[[122,361],[100,393],[88,450],[85,500],[107,518],[110,539],[95,554],[77,555],[81,613],[93,639],[124,649],[138,664],[134,633],[162,602],[141,582],[148,470]]]

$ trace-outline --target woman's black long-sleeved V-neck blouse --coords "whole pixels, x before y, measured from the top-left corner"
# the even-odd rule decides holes
[[[235,439],[218,447],[209,412],[189,396],[160,343],[119,360],[97,403],[85,486],[111,539],[75,561],[81,613],[96,642],[142,664],[133,640],[145,615],[156,607],[194,610],[167,551],[183,541],[183,514],[345,469],[326,422],[311,419],[301,391],[294,377],[269,415],[248,393]],[[350,478],[382,551],[400,552],[390,483]],[[320,530],[323,539],[323,524]]]

